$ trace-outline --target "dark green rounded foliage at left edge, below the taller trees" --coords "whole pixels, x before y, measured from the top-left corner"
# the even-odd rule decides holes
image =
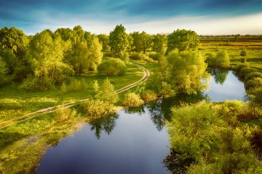
[[[1,57],[8,67],[8,73],[12,74],[14,72],[14,69],[18,66],[17,56],[15,56],[12,50],[6,49],[1,52]]]

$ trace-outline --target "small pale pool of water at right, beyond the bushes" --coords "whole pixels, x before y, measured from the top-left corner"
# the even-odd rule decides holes
[[[244,100],[244,84],[234,76],[232,71],[222,69],[210,69],[212,74],[210,90],[205,91],[212,102],[224,100]]]

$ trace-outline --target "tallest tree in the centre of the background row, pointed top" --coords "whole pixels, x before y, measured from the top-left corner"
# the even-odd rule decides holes
[[[128,51],[130,45],[128,34],[125,33],[123,25],[117,25],[114,31],[110,32],[109,45],[114,56],[120,58]]]

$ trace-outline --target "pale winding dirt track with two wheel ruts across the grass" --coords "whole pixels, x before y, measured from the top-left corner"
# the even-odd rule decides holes
[[[132,62],[130,62],[132,63]],[[128,89],[131,89],[132,87],[135,87],[137,86],[139,83],[143,83],[145,82],[146,80],[148,80],[148,78],[150,77],[150,72],[148,71],[148,69],[145,69],[144,67],[142,67],[141,65],[138,65],[137,63],[132,63],[133,65],[139,67],[140,69],[143,70],[144,72],[144,75],[143,77],[138,80],[137,82],[135,83],[132,83],[130,85],[127,85],[125,87],[122,87],[121,89],[117,89],[116,92],[117,94],[123,92],[123,91],[127,91]],[[79,100],[77,102],[84,102],[86,100],[90,100],[90,98],[86,98],[86,99],[83,99],[83,100]],[[68,108],[68,107],[72,107],[76,102],[68,102],[66,104],[63,104],[63,105],[57,105],[57,106],[54,106],[54,107],[48,107],[48,108],[45,108],[45,109],[40,109],[38,111],[34,111],[34,112],[31,112],[31,113],[27,113],[26,115],[23,115],[23,116],[20,116],[18,118],[13,118],[11,120],[7,120],[5,122],[0,122],[0,129],[4,129],[6,127],[10,127],[14,124],[17,124],[19,122],[23,122],[23,121],[26,121],[26,120],[30,120],[31,118],[34,118],[34,117],[37,117],[37,116],[41,116],[43,114],[46,114],[46,113],[51,113],[51,112],[54,112],[55,110],[57,110],[59,107],[65,107],[65,108]]]

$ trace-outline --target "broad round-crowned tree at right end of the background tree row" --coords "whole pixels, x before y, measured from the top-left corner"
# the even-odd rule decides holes
[[[179,51],[196,50],[199,45],[199,36],[191,30],[177,30],[168,35],[168,52],[174,49]]]

